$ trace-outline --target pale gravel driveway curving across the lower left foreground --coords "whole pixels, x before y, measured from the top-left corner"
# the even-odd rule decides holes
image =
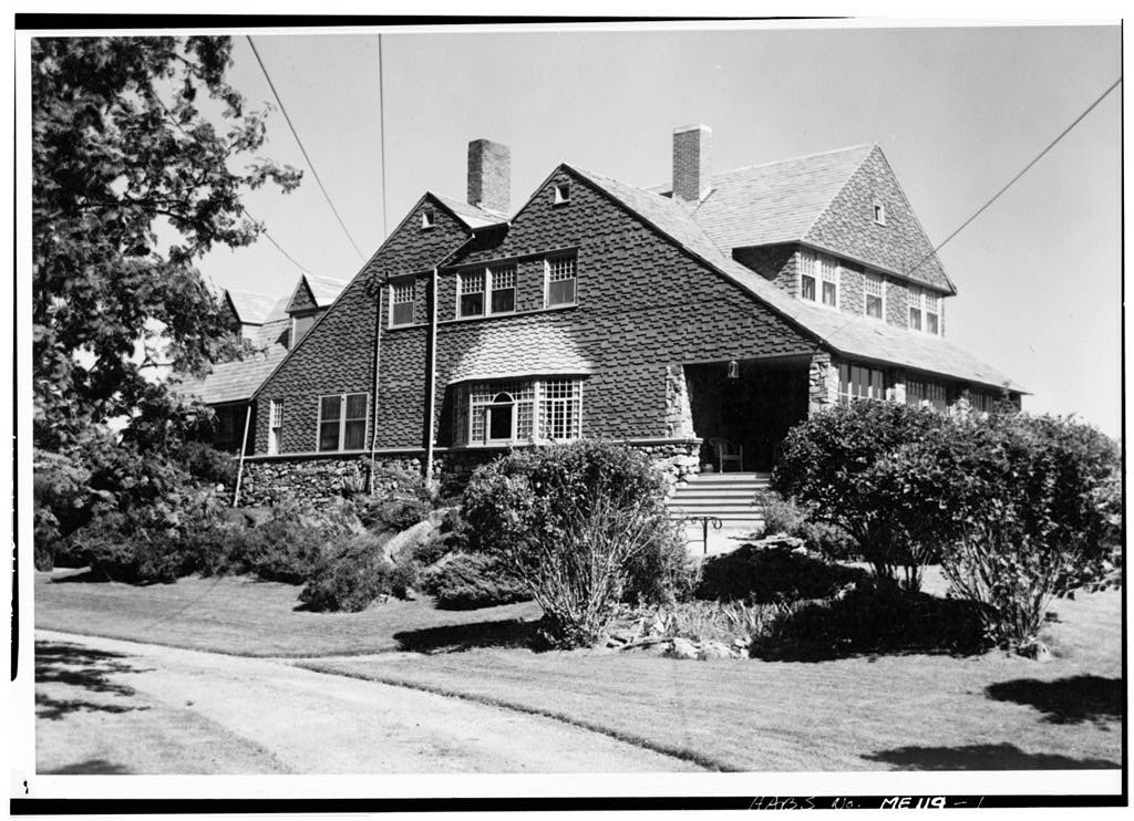
[[[36,632],[40,773],[692,771],[553,719],[254,659]]]

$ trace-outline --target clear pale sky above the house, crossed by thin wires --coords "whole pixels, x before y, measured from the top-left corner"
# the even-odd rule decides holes
[[[1122,74],[1117,25],[920,24],[773,28],[559,25],[485,32],[254,34],[336,208],[367,257],[426,191],[465,197],[466,146],[511,148],[518,208],[560,162],[640,186],[669,180],[677,126],[713,131],[727,170],[878,143],[939,243]],[[243,35],[230,79],[272,95]],[[946,335],[1032,394],[1024,408],[1120,433],[1122,86],[941,249],[957,287]],[[381,105],[380,105],[381,99]],[[382,134],[384,114],[386,213]],[[362,259],[281,112],[260,154],[299,190],[245,204],[304,268],[348,280]],[[269,241],[214,250],[218,288],[290,291]]]

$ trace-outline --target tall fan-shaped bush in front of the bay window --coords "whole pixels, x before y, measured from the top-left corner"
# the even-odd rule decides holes
[[[678,538],[666,485],[649,457],[583,441],[513,453],[480,468],[465,489],[469,547],[497,558],[543,608],[560,645],[593,643],[629,589],[632,565],[657,596],[667,571],[642,558]],[[657,583],[646,583],[657,582]],[[652,588],[652,589],[651,589]]]

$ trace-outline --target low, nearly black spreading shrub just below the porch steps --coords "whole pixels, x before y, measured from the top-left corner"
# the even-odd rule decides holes
[[[864,576],[856,567],[829,564],[787,547],[745,545],[706,558],[695,595],[760,604],[819,599]]]

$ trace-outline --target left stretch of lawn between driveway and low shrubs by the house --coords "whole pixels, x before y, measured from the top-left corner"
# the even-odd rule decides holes
[[[307,658],[400,650],[400,633],[443,641],[455,627],[463,640],[483,643],[485,632],[506,634],[508,622],[541,613],[532,602],[438,610],[429,599],[393,599],[354,614],[308,613],[296,609],[302,588],[246,576],[145,587],[91,579],[75,570],[36,573],[35,626],[235,656]]]

